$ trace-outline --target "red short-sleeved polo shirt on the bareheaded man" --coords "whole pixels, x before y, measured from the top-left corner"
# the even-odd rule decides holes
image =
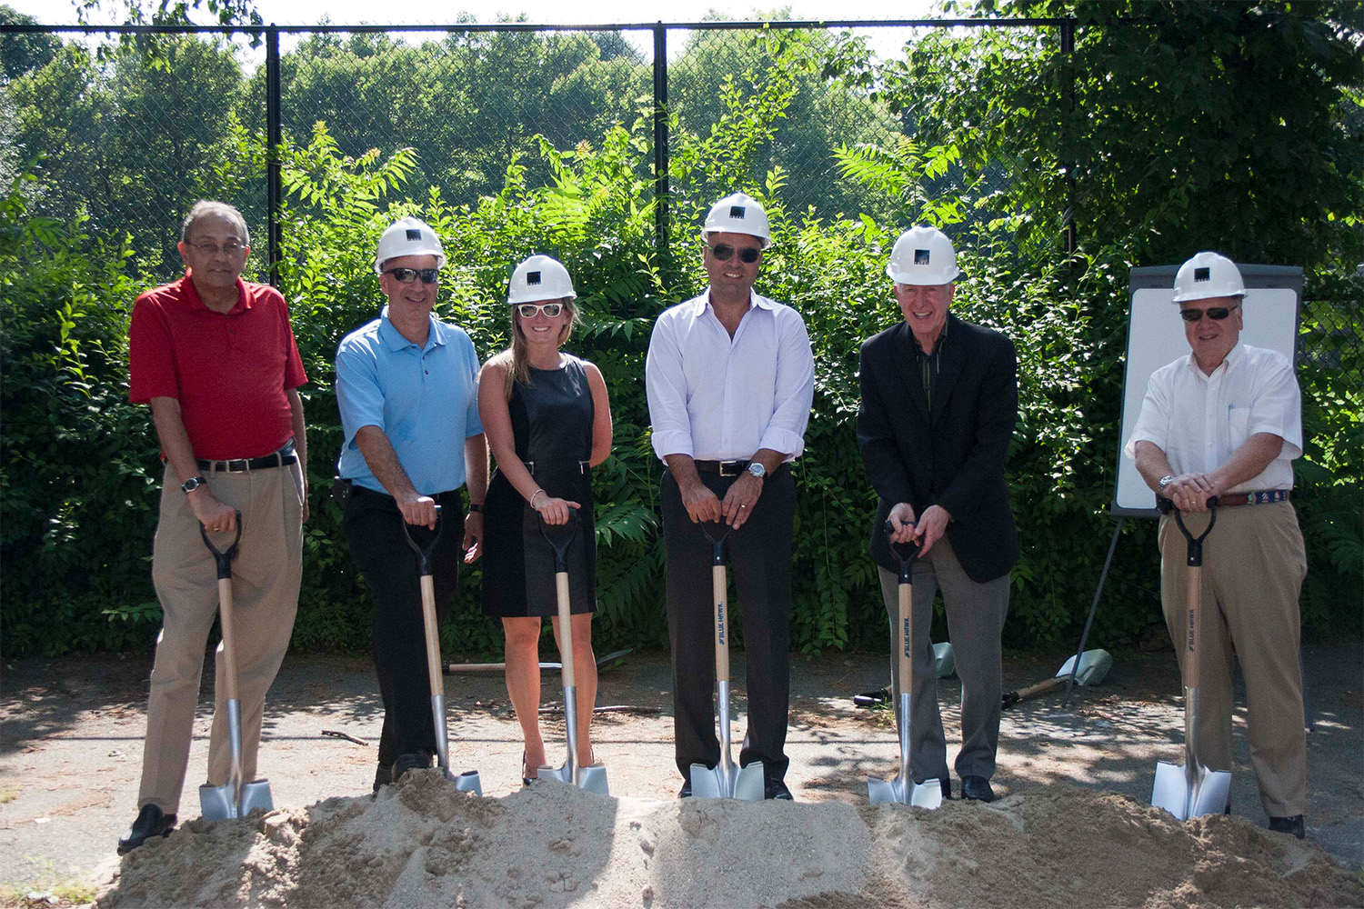
[[[176,398],[196,458],[270,454],[293,435],[285,391],[308,378],[278,290],[237,278],[237,305],[203,305],[190,271],[132,307],[128,397]]]

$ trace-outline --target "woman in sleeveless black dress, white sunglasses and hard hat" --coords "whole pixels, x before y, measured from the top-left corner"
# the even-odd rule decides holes
[[[506,634],[506,679],[525,736],[521,777],[546,765],[540,737],[540,620],[559,641],[554,551],[540,522],[563,525],[577,512],[581,536],[567,552],[573,660],[577,672],[578,765],[593,763],[592,707],[596,657],[596,534],[592,467],[611,452],[611,407],[602,372],[559,348],[577,309],[567,270],[531,256],[512,274],[512,346],[479,376],[479,417],[496,469],[483,518],[483,612]]]

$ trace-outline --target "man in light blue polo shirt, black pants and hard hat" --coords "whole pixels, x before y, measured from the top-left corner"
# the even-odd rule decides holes
[[[436,526],[431,566],[436,620],[465,561],[481,555],[488,447],[479,422],[479,357],[460,327],[431,315],[441,238],[402,218],[379,238],[374,268],[389,304],[337,349],[337,403],[345,444],[337,473],[346,487],[345,533],[374,598],[374,666],[383,733],[374,788],[435,754],[417,561],[402,522]],[[469,487],[464,517],[460,487]]]

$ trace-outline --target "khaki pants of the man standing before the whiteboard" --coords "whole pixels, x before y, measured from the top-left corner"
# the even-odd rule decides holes
[[[1207,515],[1184,525],[1195,537]],[[1188,642],[1188,544],[1173,518],[1161,518],[1161,602],[1184,671]],[[1299,664],[1299,591],[1307,552],[1292,503],[1222,508],[1203,541],[1199,624],[1199,756],[1232,769],[1232,658],[1241,664],[1251,766],[1271,818],[1307,804],[1307,735]],[[1189,684],[1185,679],[1185,684]]]

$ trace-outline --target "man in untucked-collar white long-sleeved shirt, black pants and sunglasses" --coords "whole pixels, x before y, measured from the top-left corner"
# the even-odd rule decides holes
[[[653,451],[664,461],[660,500],[667,546],[668,639],[681,796],[693,763],[715,767],[712,546],[700,522],[723,521],[743,611],[749,729],[739,765],[758,760],[768,799],[783,782],[790,691],[791,523],[788,463],[805,448],[814,358],[799,313],[753,293],[767,213],[737,192],[711,209],[701,234],[705,293],[659,316],[645,384]]]

